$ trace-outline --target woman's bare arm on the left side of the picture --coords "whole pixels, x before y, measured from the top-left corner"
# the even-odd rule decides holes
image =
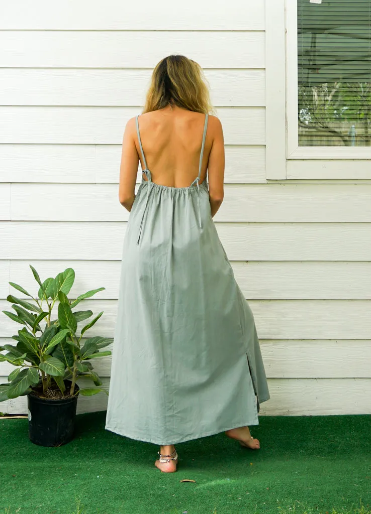
[[[129,212],[135,199],[135,183],[139,164],[134,134],[136,134],[135,117],[128,120],[123,133],[118,187],[119,202]]]

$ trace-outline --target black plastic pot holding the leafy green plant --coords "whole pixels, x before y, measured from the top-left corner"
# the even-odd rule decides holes
[[[67,388],[70,380],[64,381]],[[79,386],[75,385],[75,391]],[[40,446],[61,446],[74,438],[77,396],[56,400],[29,393],[28,434],[30,441]]]

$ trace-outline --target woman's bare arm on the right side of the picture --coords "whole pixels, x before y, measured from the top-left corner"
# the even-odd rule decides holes
[[[224,198],[224,137],[222,124],[216,116],[212,119],[211,130],[213,132],[213,144],[208,159],[207,173],[210,196],[211,217],[219,210]]]

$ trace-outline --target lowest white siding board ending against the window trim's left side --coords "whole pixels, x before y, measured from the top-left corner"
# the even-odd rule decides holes
[[[0,181],[118,183],[120,158],[121,144],[0,144]],[[225,183],[264,183],[265,173],[264,146],[225,146]]]

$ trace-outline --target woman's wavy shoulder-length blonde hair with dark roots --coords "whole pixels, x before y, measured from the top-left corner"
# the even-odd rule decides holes
[[[197,113],[215,113],[201,66],[185,56],[168,56],[156,64],[142,113],[169,104]]]

